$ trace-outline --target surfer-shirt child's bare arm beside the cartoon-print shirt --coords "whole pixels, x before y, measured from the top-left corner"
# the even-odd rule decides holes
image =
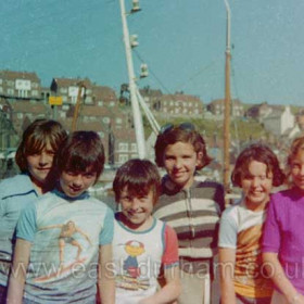
[[[112,244],[99,246],[98,288],[102,304],[115,303],[115,280]]]

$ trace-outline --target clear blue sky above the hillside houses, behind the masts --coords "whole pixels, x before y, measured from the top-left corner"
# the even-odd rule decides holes
[[[304,1],[228,0],[231,97],[245,103],[304,105]],[[127,11],[131,0],[125,0]],[[137,81],[204,103],[225,96],[224,0],[141,0],[128,15],[132,52],[150,75]],[[0,69],[88,77],[113,88],[128,83],[119,0],[5,0],[0,5]]]

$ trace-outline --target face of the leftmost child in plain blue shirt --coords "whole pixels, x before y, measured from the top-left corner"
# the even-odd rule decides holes
[[[54,151],[50,143],[40,152],[26,156],[27,167],[31,180],[37,186],[46,182],[53,164]]]

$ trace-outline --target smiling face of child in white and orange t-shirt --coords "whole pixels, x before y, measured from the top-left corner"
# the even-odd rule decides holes
[[[249,164],[248,173],[241,178],[246,206],[263,210],[269,200],[273,188],[273,173],[267,175],[267,165],[256,161]]]

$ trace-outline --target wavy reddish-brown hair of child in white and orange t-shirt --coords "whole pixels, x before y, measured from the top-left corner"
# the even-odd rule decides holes
[[[253,143],[245,148],[238,156],[231,180],[233,186],[242,187],[242,178],[249,173],[252,161],[263,163],[267,166],[267,176],[273,174],[273,185],[278,187],[284,181],[284,174],[280,168],[277,155],[273,150],[262,143]]]

